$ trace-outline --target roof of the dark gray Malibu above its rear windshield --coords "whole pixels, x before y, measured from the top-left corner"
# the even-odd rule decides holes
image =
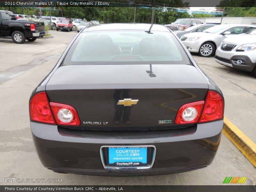
[[[88,28],[84,29],[83,32],[87,31],[104,31],[104,30],[145,30],[148,31],[151,24],[145,23],[112,23],[112,24],[98,24],[90,25]],[[164,25],[154,24],[151,28],[152,31],[165,31],[170,32],[170,30]]]

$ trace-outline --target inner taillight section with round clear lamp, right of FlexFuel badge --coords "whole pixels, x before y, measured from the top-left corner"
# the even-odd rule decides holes
[[[175,124],[197,123],[204,106],[204,101],[182,105],[175,118]]]

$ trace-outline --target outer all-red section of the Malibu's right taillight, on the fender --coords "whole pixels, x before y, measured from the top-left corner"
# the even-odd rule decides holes
[[[217,92],[208,91],[199,123],[222,119],[223,115],[224,102],[222,97]]]

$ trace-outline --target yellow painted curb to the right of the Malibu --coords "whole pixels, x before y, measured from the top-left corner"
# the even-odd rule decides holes
[[[234,143],[254,167],[256,167],[256,144],[225,116],[222,132]]]

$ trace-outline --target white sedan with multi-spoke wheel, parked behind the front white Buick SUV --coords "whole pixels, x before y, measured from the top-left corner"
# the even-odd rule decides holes
[[[180,40],[189,52],[199,53],[202,57],[210,57],[227,37],[247,33],[248,30],[255,28],[255,25],[244,24],[216,25],[203,32],[185,34],[180,37]]]

